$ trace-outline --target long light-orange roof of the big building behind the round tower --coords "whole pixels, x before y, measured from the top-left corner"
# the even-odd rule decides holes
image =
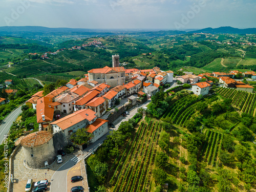
[[[92,121],[96,117],[95,114],[96,112],[90,109],[83,109],[75,113],[72,113],[66,117],[63,117],[57,121],[54,121],[50,124],[56,124],[60,127],[60,129],[66,130],[67,128],[83,121],[84,119],[87,119],[88,121]]]

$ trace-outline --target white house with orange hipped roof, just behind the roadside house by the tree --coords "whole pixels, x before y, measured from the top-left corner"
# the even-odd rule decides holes
[[[103,97],[96,97],[86,104],[87,109],[91,109],[96,112],[99,118],[106,111],[106,100]]]

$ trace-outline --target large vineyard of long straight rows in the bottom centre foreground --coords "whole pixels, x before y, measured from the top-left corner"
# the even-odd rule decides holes
[[[120,161],[115,161],[111,169],[110,184],[113,191],[150,190],[160,127],[160,123],[154,121],[140,124],[134,140],[130,140]]]

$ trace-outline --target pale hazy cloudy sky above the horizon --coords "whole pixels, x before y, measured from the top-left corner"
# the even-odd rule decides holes
[[[0,26],[88,29],[256,27],[255,0],[0,0]]]

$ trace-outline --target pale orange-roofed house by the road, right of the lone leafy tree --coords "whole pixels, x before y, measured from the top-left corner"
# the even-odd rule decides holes
[[[87,132],[93,135],[89,143],[94,143],[103,135],[108,133],[108,121],[104,119],[96,119],[92,124],[87,125]]]

